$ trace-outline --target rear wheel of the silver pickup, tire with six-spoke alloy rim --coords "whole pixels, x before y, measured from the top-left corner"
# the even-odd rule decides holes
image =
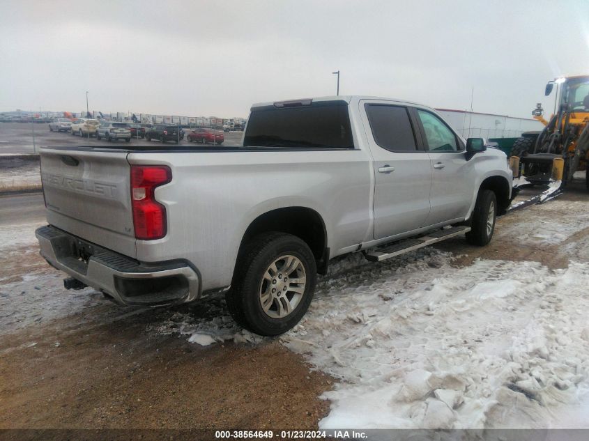
[[[296,266],[291,272],[286,270],[283,278],[281,270],[289,263],[287,259]],[[270,268],[273,264],[276,272]],[[225,295],[227,309],[239,325],[251,332],[265,336],[284,334],[309,309],[315,291],[316,272],[313,253],[303,240],[278,232],[257,235],[247,242],[238,256],[231,290]],[[275,279],[265,279],[264,274],[273,274]],[[297,283],[285,283],[286,275],[291,274],[296,274],[294,279],[298,280]],[[298,288],[303,292],[289,288]],[[272,290],[277,290],[277,293]],[[262,306],[262,297],[268,298],[266,311]],[[286,305],[293,309],[289,312],[284,309]]]

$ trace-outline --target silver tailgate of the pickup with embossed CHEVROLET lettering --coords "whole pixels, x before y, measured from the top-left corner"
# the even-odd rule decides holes
[[[127,152],[44,148],[40,160],[47,222],[135,258]]]

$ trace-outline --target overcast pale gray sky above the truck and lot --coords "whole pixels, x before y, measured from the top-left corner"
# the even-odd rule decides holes
[[[247,116],[252,102],[379,95],[546,113],[589,74],[589,0],[0,0],[0,111]]]

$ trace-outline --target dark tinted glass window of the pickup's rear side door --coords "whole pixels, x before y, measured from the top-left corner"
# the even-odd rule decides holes
[[[378,146],[392,152],[415,151],[415,134],[406,107],[365,105],[372,136]]]

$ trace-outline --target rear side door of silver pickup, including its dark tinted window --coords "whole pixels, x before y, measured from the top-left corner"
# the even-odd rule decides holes
[[[374,238],[424,226],[429,215],[431,167],[408,107],[360,100],[374,160]]]

